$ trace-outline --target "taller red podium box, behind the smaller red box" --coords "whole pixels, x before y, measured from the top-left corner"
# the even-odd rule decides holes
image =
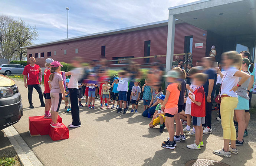
[[[30,116],[29,117],[29,133],[31,136],[37,135],[48,135],[50,128],[50,123],[52,119],[45,119],[45,116]],[[62,122],[62,118],[58,116],[58,122]]]

